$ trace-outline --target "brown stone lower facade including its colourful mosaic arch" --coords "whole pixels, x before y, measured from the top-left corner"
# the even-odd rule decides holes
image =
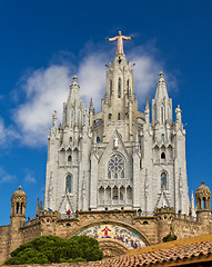
[[[22,190],[18,190],[18,194],[23,195]],[[20,204],[24,200],[26,195]],[[24,210],[16,209],[10,219],[9,226],[0,227],[0,264],[9,258],[14,248],[43,235],[61,238],[71,238],[74,235],[92,236],[99,240],[104,256],[113,257],[133,248],[162,243],[162,238],[170,233],[176,235],[178,239],[212,233],[211,209],[208,208],[196,211],[196,218],[175,214],[174,209],[169,207],[157,208],[153,216],[142,216],[140,210],[135,209],[123,209],[77,211],[74,217],[64,218],[58,211],[42,210],[27,222]],[[102,233],[105,227],[110,230],[107,236]],[[102,236],[94,236],[93,233],[97,235],[97,231],[91,233],[91,228],[98,228]],[[117,229],[115,236],[111,235],[112,229]]]

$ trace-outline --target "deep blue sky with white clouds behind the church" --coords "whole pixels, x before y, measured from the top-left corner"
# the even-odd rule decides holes
[[[71,77],[97,110],[105,88],[104,65],[115,43],[135,62],[134,91],[140,110],[155,93],[163,70],[173,110],[180,103],[186,130],[189,188],[202,179],[212,188],[212,1],[0,2],[0,225],[9,224],[10,197],[19,185],[28,196],[27,216],[43,197],[47,135],[54,109],[60,113]]]

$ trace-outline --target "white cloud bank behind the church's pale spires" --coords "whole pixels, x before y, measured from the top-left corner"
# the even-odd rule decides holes
[[[114,51],[112,53],[114,55]],[[71,73],[73,69],[77,69],[80,95],[85,107],[89,107],[92,98],[95,110],[100,111],[101,98],[105,92],[105,63],[113,60],[110,57],[111,50],[87,50],[83,55],[78,67],[65,62],[51,65],[21,78],[21,81],[24,81],[21,85],[26,92],[26,100],[18,107],[14,121],[24,145],[38,147],[47,144],[47,128],[51,127],[53,110],[58,111],[59,120],[61,120],[62,106],[68,98],[71,76],[75,75]],[[135,47],[127,53],[127,58],[135,62],[133,67],[134,92],[140,98],[139,102],[142,103],[147,95],[152,97],[155,91],[157,75],[161,70],[165,71],[164,63],[155,59],[153,47]]]

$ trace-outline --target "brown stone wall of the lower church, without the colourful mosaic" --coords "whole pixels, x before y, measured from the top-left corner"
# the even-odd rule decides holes
[[[186,215],[176,216],[173,208],[157,209],[154,216],[138,216],[137,210],[78,211],[75,218],[63,219],[57,211],[41,211],[39,217],[20,228],[13,225],[0,227],[0,264],[8,259],[11,250],[36,237],[54,235],[71,238],[85,229],[101,225],[119,226],[133,231],[145,246],[161,243],[170,231],[176,235],[178,239],[212,233],[209,217],[196,221]],[[129,250],[121,240],[112,238],[98,240],[107,257],[125,254]]]

